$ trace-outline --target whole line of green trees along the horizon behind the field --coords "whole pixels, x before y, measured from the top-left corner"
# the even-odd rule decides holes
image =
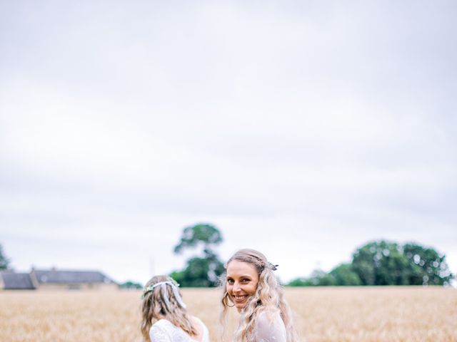
[[[175,254],[198,249],[186,261],[184,269],[170,276],[183,287],[214,287],[224,273],[224,263],[215,252],[223,242],[221,231],[212,224],[186,227],[174,247]],[[9,269],[10,260],[0,244],[0,270]],[[357,248],[350,263],[339,264],[331,271],[314,270],[310,276],[299,277],[286,286],[378,286],[378,285],[447,285],[454,275],[446,256],[431,247],[416,243],[398,244],[385,240],[373,241]],[[141,284],[127,281],[125,288]]]

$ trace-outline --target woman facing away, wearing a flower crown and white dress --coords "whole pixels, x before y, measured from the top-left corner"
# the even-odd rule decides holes
[[[143,290],[141,333],[147,342],[209,342],[208,329],[190,316],[179,284],[167,276],[154,276]]]

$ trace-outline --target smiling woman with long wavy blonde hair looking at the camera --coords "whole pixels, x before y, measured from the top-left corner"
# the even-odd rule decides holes
[[[227,261],[223,281],[221,323],[224,341],[228,308],[241,314],[236,342],[296,342],[291,310],[273,271],[276,266],[253,249],[241,249]]]

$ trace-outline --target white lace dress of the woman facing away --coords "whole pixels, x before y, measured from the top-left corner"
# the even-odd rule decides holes
[[[191,338],[181,328],[178,328],[173,323],[166,319],[159,319],[156,321],[151,328],[149,329],[149,337],[151,342],[209,342],[209,332],[208,328],[204,325],[199,318],[196,318],[197,321],[201,324],[203,328],[203,339],[197,341],[194,338]]]

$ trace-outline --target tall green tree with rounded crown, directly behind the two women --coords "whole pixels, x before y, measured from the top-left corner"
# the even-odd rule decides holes
[[[223,241],[222,234],[211,224],[195,224],[186,227],[179,244],[174,248],[176,254],[184,249],[201,247],[201,257],[191,257],[182,271],[174,271],[171,277],[184,287],[211,287],[217,286],[219,276],[224,273],[224,264],[214,252],[213,248]]]

